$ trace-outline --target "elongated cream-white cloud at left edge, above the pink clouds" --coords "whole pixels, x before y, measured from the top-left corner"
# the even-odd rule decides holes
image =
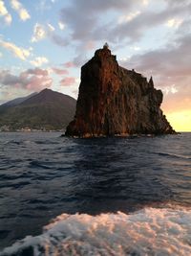
[[[10,51],[16,58],[20,58],[22,60],[26,60],[31,55],[31,49],[18,47],[15,44],[3,41],[2,39],[0,39],[0,46]]]

